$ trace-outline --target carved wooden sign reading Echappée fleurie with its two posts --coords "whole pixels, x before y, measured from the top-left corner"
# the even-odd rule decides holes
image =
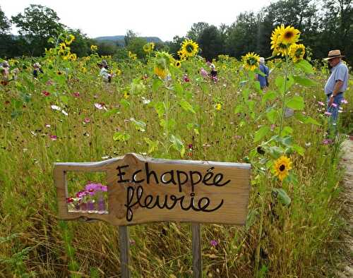
[[[102,162],[56,163],[59,218],[99,219],[119,226],[121,277],[130,277],[127,225],[193,222],[193,275],[201,277],[201,236],[196,223],[245,224],[250,169],[250,164],[154,159],[136,154]],[[107,211],[68,208],[68,171],[107,173]]]

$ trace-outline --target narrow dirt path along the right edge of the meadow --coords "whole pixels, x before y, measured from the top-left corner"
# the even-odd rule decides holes
[[[346,261],[342,262],[342,271],[338,274],[339,278],[353,277],[353,140],[345,140],[343,143],[344,154],[341,165],[345,167],[345,177],[342,193],[342,202],[344,202],[344,216],[347,219],[347,226],[344,231],[343,241],[345,242]]]

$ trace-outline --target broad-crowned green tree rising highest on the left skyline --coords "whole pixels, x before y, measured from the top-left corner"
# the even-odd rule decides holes
[[[55,37],[57,30],[64,29],[59,20],[54,10],[41,5],[30,5],[23,13],[11,18],[31,56],[40,56],[45,47],[50,47],[49,37]]]

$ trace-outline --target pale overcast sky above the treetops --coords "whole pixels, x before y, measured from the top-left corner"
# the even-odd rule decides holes
[[[273,0],[274,1],[274,0]],[[259,11],[271,0],[0,0],[7,18],[23,13],[30,4],[52,8],[70,28],[80,29],[88,37],[125,35],[133,30],[143,37],[172,40],[186,35],[200,21],[219,26],[230,25],[243,11]],[[16,30],[13,29],[16,34]]]

